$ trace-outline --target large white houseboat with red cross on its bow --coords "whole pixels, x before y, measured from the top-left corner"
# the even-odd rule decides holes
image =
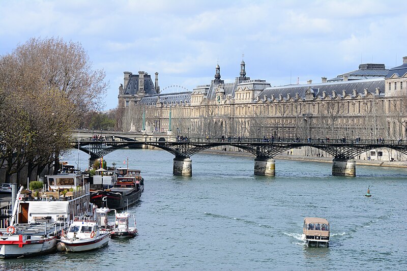
[[[47,254],[56,249],[57,238],[75,216],[88,214],[89,185],[77,188],[70,197],[59,192],[44,191],[38,197],[17,192],[12,216],[0,229],[0,257],[17,258]],[[48,195],[47,195],[48,193]]]

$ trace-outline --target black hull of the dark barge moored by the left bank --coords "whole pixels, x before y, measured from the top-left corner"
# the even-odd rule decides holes
[[[120,194],[117,192],[114,192],[112,189],[111,191],[99,191],[95,192],[91,195],[91,202],[96,204],[97,206],[104,206],[106,205],[107,202],[107,207],[111,209],[123,209],[126,208],[127,206],[131,206],[137,201],[140,200],[141,196],[141,191],[142,189],[139,189],[138,191],[133,191],[128,194]],[[106,201],[103,201],[102,199],[106,197]]]

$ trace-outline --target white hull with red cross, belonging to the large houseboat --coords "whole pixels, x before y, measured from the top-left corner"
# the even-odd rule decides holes
[[[0,240],[0,258],[31,257],[56,250],[56,237],[31,237],[23,241],[22,235],[3,235]]]

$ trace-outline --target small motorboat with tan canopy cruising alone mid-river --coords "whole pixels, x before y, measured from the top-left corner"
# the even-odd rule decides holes
[[[305,218],[301,239],[309,247],[329,247],[329,222],[325,218]]]

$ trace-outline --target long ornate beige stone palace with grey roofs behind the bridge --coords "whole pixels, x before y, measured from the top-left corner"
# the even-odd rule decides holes
[[[214,79],[192,92],[160,94],[157,74],[154,86],[147,73],[125,72],[119,93],[119,106],[142,108],[151,131],[190,137],[405,139],[407,57],[390,70],[362,64],[336,78],[322,77],[321,83],[278,87],[251,80],[243,61],[234,82],[221,80],[217,65]],[[138,112],[131,115],[134,123],[142,118]]]

